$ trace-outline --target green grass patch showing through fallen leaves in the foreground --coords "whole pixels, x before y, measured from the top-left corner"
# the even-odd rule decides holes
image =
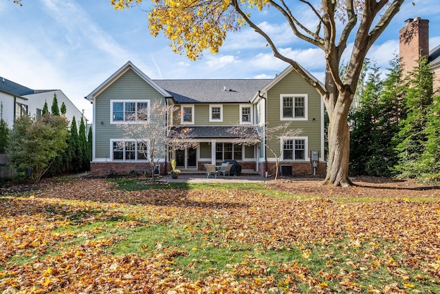
[[[222,240],[220,231],[201,233],[204,223],[195,223],[194,220],[188,223],[144,224],[131,229],[118,228],[121,221],[65,228],[83,233],[65,245],[85,242],[87,238],[81,235],[87,235],[87,232],[94,232],[93,238],[96,239],[120,235],[122,240],[107,249],[111,254],[136,253],[145,258],[155,258],[157,254],[176,252],[169,258],[168,266],[174,271],[182,271],[184,277],[192,280],[228,272],[250,279],[272,276],[280,291],[295,284],[298,291],[305,293],[310,291],[309,283],[315,281],[318,288],[344,293],[347,288],[341,285],[340,276],[347,275],[347,287],[362,293],[380,288],[384,283],[406,284],[411,287],[408,288],[410,291],[439,293],[438,284],[428,282],[428,278],[432,278],[429,275],[408,266],[389,267],[390,258],[399,261],[404,257],[398,252],[392,256],[384,254],[392,250],[393,245],[382,240],[351,246],[350,240],[342,238],[331,244],[298,242],[286,244],[282,249],[267,250],[262,249],[261,244]],[[103,230],[96,233],[97,229]],[[19,259],[15,261],[19,262]],[[25,261],[28,260],[21,260]],[[392,274],[390,270],[399,274]],[[261,274],[263,272],[264,275]],[[287,279],[289,275],[294,277],[294,282]],[[417,280],[416,276],[427,278]]]

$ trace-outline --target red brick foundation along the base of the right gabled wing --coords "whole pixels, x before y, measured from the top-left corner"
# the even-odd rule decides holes
[[[278,166],[278,176],[280,176],[281,165],[292,166],[292,176],[313,176],[314,166],[312,162],[280,162]],[[275,162],[267,162],[267,171],[269,175],[274,176],[276,174],[276,164]],[[259,162],[259,174],[260,176],[265,176],[265,163]],[[326,162],[318,162],[318,167],[316,167],[316,176],[324,178],[327,174],[327,164]]]

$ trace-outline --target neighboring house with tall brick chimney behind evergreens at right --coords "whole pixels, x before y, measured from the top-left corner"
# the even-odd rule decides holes
[[[431,67],[433,89],[440,90],[440,45],[429,50],[428,19],[407,19],[404,28],[399,30],[399,56],[404,74],[417,66],[419,56],[425,56]]]

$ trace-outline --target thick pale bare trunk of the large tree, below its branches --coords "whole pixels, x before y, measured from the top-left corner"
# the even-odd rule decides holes
[[[350,130],[347,123],[352,95],[348,91],[339,92],[338,95],[338,102],[328,109],[329,166],[322,184],[347,187],[352,185],[349,179]]]

